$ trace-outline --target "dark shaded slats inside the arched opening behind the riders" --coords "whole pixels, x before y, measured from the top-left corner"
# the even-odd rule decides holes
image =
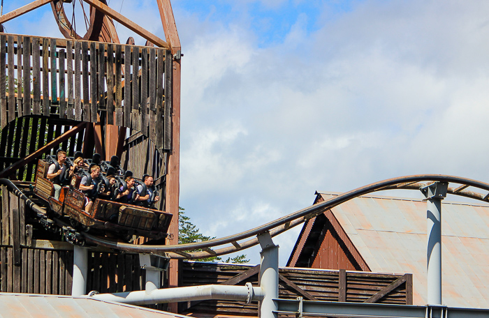
[[[52,142],[62,133],[73,128],[73,125],[75,125],[73,121],[51,117],[34,115],[15,117],[0,132],[0,171]],[[83,135],[83,131],[78,132],[59,144],[59,147],[67,151],[68,156],[73,156],[76,151],[82,151]],[[34,181],[36,164],[37,160],[33,160],[20,167],[14,176],[10,176],[10,179]]]

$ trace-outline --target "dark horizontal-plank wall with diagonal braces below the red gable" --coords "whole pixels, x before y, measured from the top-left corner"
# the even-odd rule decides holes
[[[212,264],[201,262],[183,262],[182,286],[205,284],[222,284],[241,273],[250,270],[252,266],[239,264]],[[348,271],[309,270],[307,268],[279,268],[279,297],[295,299],[299,294],[291,285],[302,289],[305,293],[319,301],[348,301],[363,303],[375,294],[383,291],[396,280],[405,275],[389,275],[374,273],[359,273]],[[258,273],[241,280],[237,285],[243,286],[251,282],[258,286]],[[412,304],[412,282],[402,283],[383,296],[377,303]],[[258,315],[258,303],[247,305],[245,302],[233,301],[200,301],[180,305],[180,313],[189,315]]]

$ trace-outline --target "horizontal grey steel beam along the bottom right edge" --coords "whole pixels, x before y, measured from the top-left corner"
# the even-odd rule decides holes
[[[383,303],[338,303],[274,299],[277,314],[328,317],[400,317],[400,318],[487,318],[489,309],[451,308],[446,306],[391,305]]]

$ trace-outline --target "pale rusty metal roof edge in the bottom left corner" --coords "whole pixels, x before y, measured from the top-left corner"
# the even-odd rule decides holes
[[[186,316],[83,297],[0,293],[0,317],[173,318]]]

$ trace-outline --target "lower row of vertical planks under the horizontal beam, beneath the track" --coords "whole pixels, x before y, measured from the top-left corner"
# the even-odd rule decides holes
[[[0,245],[0,291],[71,295],[73,250]],[[108,252],[89,253],[87,293],[131,292],[145,288],[139,256]]]

